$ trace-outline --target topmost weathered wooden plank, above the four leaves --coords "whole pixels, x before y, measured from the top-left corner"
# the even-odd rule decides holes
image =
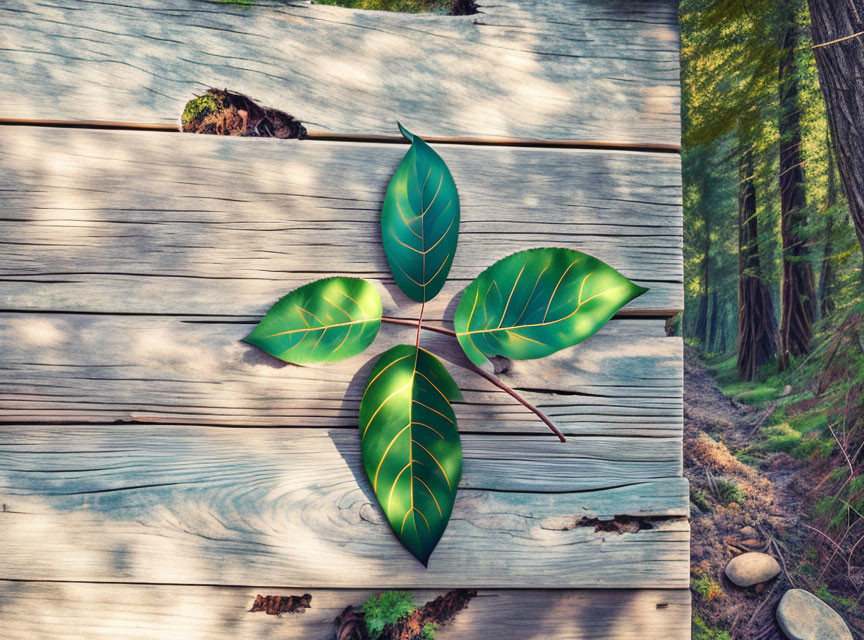
[[[0,117],[175,124],[229,87],[312,130],[680,140],[677,2],[501,0],[468,17],[305,2],[20,0]]]

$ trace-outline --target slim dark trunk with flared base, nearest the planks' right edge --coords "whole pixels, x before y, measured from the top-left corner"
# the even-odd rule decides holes
[[[743,146],[743,145],[742,145]],[[777,319],[762,282],[753,156],[741,152],[738,186],[738,377],[753,380],[776,351]]]

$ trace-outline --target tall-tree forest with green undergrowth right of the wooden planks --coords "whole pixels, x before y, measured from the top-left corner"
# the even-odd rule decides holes
[[[787,586],[861,634],[864,3],[682,0],[680,20],[686,311],[670,331],[751,416],[746,437],[710,436],[757,475],[788,476],[772,500],[794,504],[765,507],[787,511],[769,534]],[[685,394],[686,417],[698,396]],[[722,465],[685,464],[697,512],[759,508]],[[754,624],[759,598],[742,604],[700,556],[700,530],[696,518],[694,637],[773,637]]]

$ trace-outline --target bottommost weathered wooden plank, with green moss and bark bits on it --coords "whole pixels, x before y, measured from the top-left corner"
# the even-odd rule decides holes
[[[302,615],[248,612],[257,594],[311,593]],[[0,617],[8,640],[64,638],[295,638],[324,640],[333,619],[364,590],[0,581]],[[416,591],[418,603],[441,591]],[[683,640],[690,594],[671,590],[481,590],[440,640]]]

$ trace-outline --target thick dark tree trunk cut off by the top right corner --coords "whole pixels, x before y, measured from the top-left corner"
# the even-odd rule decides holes
[[[864,251],[864,0],[808,2],[840,178]]]

